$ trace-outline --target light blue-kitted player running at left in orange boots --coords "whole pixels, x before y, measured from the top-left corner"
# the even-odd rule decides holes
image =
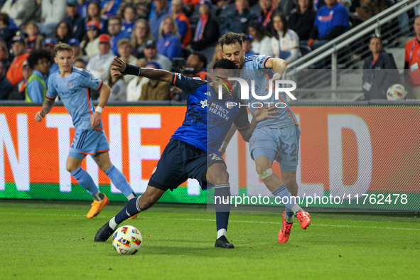
[[[92,177],[80,167],[86,155],[92,156],[99,168],[111,178],[112,183],[127,199],[135,198],[136,195],[124,174],[109,160],[109,143],[103,129],[101,112],[108,102],[111,90],[103,84],[102,80],[93,77],[89,71],[72,67],[74,60],[70,45],[65,43],[55,45],[54,61],[58,63],[60,70],[50,75],[47,98],[41,111],[36,113],[35,119],[41,122],[53,107],[55,97],[60,96],[76,128],[66,168],[82,188],[93,196],[92,208],[87,213],[87,217],[92,218],[101,212],[102,208],[109,203],[109,199],[107,195],[99,191]],[[96,110],[90,98],[91,89],[100,90]]]

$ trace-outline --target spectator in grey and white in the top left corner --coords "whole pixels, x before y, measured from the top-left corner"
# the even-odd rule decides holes
[[[35,8],[33,0],[6,0],[1,7],[1,13],[13,18],[16,26],[22,26],[32,19]]]

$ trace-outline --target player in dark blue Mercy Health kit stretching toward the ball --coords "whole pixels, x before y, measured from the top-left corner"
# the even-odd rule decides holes
[[[163,150],[155,172],[152,174],[146,191],[139,198],[131,199],[116,216],[112,217],[95,236],[95,242],[105,242],[117,229],[118,225],[137,213],[154,205],[166,190],[173,190],[188,178],[200,182],[203,190],[215,186],[215,196],[230,197],[229,174],[225,161],[219,156],[227,131],[235,123],[245,141],[249,140],[257,123],[274,114],[274,107],[262,107],[255,110],[251,124],[245,107],[228,108],[227,102],[239,102],[239,99],[223,88],[223,99],[218,99],[217,89],[221,84],[214,77],[212,84],[198,77],[185,77],[179,73],[151,68],[139,68],[114,58],[114,75],[139,75],[153,80],[169,82],[189,95],[185,119]],[[231,77],[235,64],[230,60],[219,60],[214,67],[222,77]],[[211,108],[211,110],[210,110]],[[217,239],[215,247],[233,248],[227,241],[226,230],[229,220],[230,204],[215,204]]]

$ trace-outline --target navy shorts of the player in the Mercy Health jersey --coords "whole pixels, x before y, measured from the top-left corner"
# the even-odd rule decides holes
[[[207,169],[214,163],[225,164],[225,161],[217,154],[207,154],[184,141],[171,139],[163,150],[148,185],[164,191],[174,190],[190,178],[197,179],[201,188],[206,190],[212,187],[205,180]]]

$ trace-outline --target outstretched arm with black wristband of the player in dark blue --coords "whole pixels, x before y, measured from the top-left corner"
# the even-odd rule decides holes
[[[115,72],[114,75],[112,75],[112,77],[119,77],[122,75],[134,75],[148,77],[151,80],[172,82],[172,72],[153,68],[139,68],[138,66],[126,63],[124,60],[118,58],[117,56],[114,58],[114,62],[112,62],[111,65],[112,70],[118,71]]]

